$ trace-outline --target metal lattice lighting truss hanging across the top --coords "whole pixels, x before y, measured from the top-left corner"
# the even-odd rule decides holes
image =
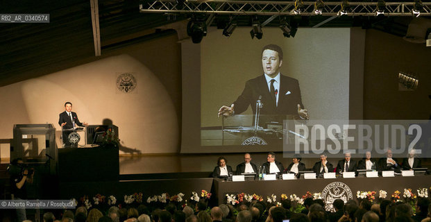
[[[322,16],[343,15],[348,16],[375,16],[378,12],[379,2],[348,2],[348,1],[322,1]],[[384,1],[383,1],[384,2]],[[344,10],[341,7],[344,4]],[[380,3],[381,5],[382,3]],[[241,0],[188,0],[183,4],[176,0],[144,0],[140,3],[140,12],[145,13],[202,13],[202,14],[229,14],[229,15],[316,15],[316,1],[241,1]],[[346,5],[349,11],[346,10]],[[421,6],[421,7],[419,7]],[[384,15],[386,16],[412,16],[414,10],[420,8],[421,16],[431,16],[431,2],[406,1],[384,2]],[[382,10],[382,9],[379,9]],[[345,14],[346,13],[346,14]]]

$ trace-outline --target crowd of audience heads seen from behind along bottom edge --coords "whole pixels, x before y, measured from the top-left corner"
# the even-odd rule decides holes
[[[208,207],[205,202],[198,202],[194,206],[177,207],[169,203],[164,209],[150,210],[145,205],[137,208],[110,207],[103,213],[96,208],[87,211],[85,207],[78,207],[74,212],[66,210],[59,215],[45,212],[44,222],[414,222],[431,221],[430,200],[418,198],[416,214],[412,207],[402,201],[393,203],[382,200],[380,204],[369,200],[337,199],[332,203],[333,210],[326,208],[321,199],[304,200],[301,212],[294,210],[296,203],[281,200],[280,205],[253,200],[251,203],[230,205],[222,204]]]

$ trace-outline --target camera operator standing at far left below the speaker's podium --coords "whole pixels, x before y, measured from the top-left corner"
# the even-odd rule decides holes
[[[35,174],[34,169],[27,169],[24,166],[22,158],[17,158],[10,162],[8,171],[10,174],[10,194],[12,194],[12,200],[26,200],[26,184],[33,183],[33,176]],[[22,207],[17,208],[16,210],[18,221],[25,221],[26,209]]]

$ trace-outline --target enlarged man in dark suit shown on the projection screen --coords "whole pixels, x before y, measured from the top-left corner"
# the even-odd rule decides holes
[[[230,117],[240,114],[251,105],[253,114],[256,113],[256,101],[263,107],[260,114],[294,115],[301,119],[309,119],[308,111],[303,108],[301,90],[298,80],[280,74],[283,52],[280,46],[269,44],[262,49],[262,68],[264,75],[257,76],[246,82],[246,87],[232,105],[223,105],[218,116]]]

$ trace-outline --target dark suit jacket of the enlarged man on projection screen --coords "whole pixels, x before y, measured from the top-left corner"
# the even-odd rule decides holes
[[[257,76],[246,82],[246,87],[238,99],[233,103],[235,105],[235,114],[240,114],[251,106],[253,114],[256,113],[256,101],[259,96],[262,96],[262,103],[264,104],[260,110],[260,114],[279,114],[279,115],[298,115],[298,104],[303,108],[301,101],[301,90],[299,89],[298,80],[283,76],[280,74],[280,89],[278,92],[278,106],[276,106],[271,92],[269,92],[267,79],[264,76]]]

